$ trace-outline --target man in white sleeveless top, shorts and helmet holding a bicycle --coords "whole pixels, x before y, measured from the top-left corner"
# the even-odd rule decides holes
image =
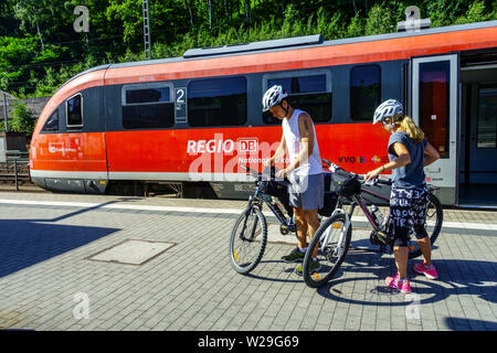
[[[325,193],[325,179],[316,130],[310,116],[292,107],[286,92],[279,85],[274,85],[264,94],[263,111],[267,110],[275,118],[282,120],[283,135],[282,142],[265,165],[272,165],[276,159],[288,152],[290,163],[279,170],[276,178],[287,176],[292,183],[288,190],[289,203],[294,207],[297,226],[297,248],[283,256],[282,259],[286,263],[302,261],[308,245],[307,232],[311,239],[319,227],[318,210],[322,207]],[[320,267],[316,256],[317,254],[313,254],[311,270]],[[302,265],[296,268],[296,272],[302,275]]]

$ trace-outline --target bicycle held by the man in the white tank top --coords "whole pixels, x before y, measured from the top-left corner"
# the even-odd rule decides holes
[[[258,173],[246,165],[241,167],[256,178],[255,191],[248,197],[246,208],[233,226],[230,238],[230,260],[236,272],[248,274],[261,261],[267,244],[267,222],[262,213],[264,204],[267,205],[279,222],[279,233],[282,235],[294,234],[297,236],[297,227],[293,218],[293,208],[287,200],[282,200],[285,195],[288,197],[286,188],[290,183],[287,180],[274,180],[274,170],[272,170],[271,175],[264,175],[264,173]],[[263,178],[263,175],[271,178]],[[273,184],[269,181],[273,181]],[[275,185],[281,186],[279,193],[268,190],[272,185],[273,188]],[[277,197],[279,202],[274,200],[274,197]],[[334,203],[332,200],[328,199],[328,202],[325,202],[325,208],[320,210],[320,214],[331,215],[337,200]]]

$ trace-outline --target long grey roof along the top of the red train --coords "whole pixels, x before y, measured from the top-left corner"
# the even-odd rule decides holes
[[[191,49],[191,50],[186,51],[183,53],[183,55],[180,57],[167,57],[167,58],[158,58],[158,60],[148,60],[148,61],[138,61],[138,62],[128,62],[128,63],[114,63],[114,64],[105,64],[105,65],[95,66],[95,67],[84,71],[84,72],[77,74],[76,76],[72,77],[66,83],[64,83],[60,88],[62,88],[67,83],[70,83],[71,81],[73,81],[82,75],[85,75],[87,73],[92,73],[95,71],[99,71],[99,69],[157,65],[157,64],[166,64],[166,63],[186,62],[186,61],[192,61],[192,60],[207,60],[207,58],[213,58],[213,57],[248,55],[248,54],[255,54],[255,53],[281,52],[281,51],[289,51],[289,50],[296,50],[296,49],[336,46],[336,45],[343,45],[343,44],[355,44],[355,43],[366,43],[366,42],[384,41],[384,40],[392,40],[392,39],[413,38],[413,36],[450,33],[450,32],[457,32],[457,31],[470,31],[470,30],[486,29],[486,28],[497,28],[497,20],[485,21],[485,22],[475,22],[475,23],[468,23],[468,24],[448,25],[448,26],[441,26],[441,28],[433,28],[433,29],[423,29],[423,30],[420,30],[416,32],[395,32],[395,33],[366,35],[366,36],[357,36],[357,38],[339,39],[339,40],[328,40],[328,41],[325,41],[320,34],[315,34],[315,35],[285,38],[285,39],[278,39],[278,40],[268,40],[268,41],[260,41],[260,42],[251,42],[251,43],[230,44],[230,45],[215,46],[215,47]],[[497,43],[497,39],[496,39],[496,43]]]

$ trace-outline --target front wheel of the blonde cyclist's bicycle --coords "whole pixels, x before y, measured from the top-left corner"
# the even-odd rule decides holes
[[[326,220],[310,242],[303,263],[303,276],[307,286],[318,288],[328,282],[340,268],[350,246],[352,225],[346,229],[345,214],[336,214]],[[320,267],[311,269],[313,254],[317,248]]]

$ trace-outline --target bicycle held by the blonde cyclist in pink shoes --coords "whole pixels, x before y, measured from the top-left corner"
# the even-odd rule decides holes
[[[380,245],[381,250],[384,250],[387,246],[390,246],[393,249],[393,238],[389,232],[392,218],[389,214],[384,217],[378,206],[368,199],[368,196],[374,196],[388,203],[389,197],[362,188],[364,181],[361,176],[348,173],[326,159],[324,159],[322,162],[329,165],[330,171],[335,172],[341,170],[343,173],[349,174],[350,180],[356,180],[357,188],[349,195],[339,195],[337,207],[334,213],[325,223],[321,223],[307,248],[303,261],[303,276],[306,285],[313,288],[321,287],[332,279],[346,258],[352,237],[351,217],[356,206],[359,206],[362,210],[368,222],[373,227],[370,234],[370,243]],[[367,184],[372,186],[378,184],[390,186],[392,181],[376,179]],[[443,208],[434,194],[436,191],[436,188],[429,185],[429,208],[426,212],[425,227],[427,227],[426,233],[430,236],[432,245],[438,237],[443,223]],[[345,201],[350,202],[349,212],[343,210]],[[410,237],[413,233],[414,231],[411,227]],[[318,248],[317,258],[320,267],[318,270],[310,270],[310,261],[316,247]],[[415,258],[421,255],[417,242],[410,239],[408,247],[409,258]]]

